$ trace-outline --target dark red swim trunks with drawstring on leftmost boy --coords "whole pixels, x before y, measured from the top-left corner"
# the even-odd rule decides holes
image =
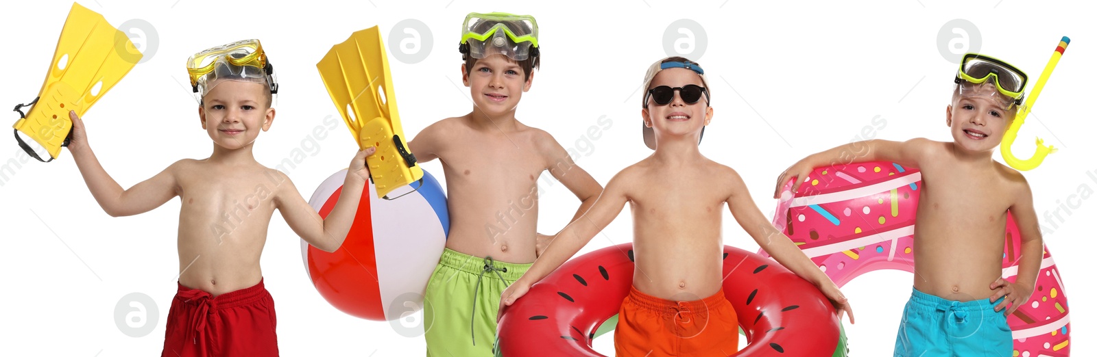
[[[274,325],[274,299],[262,279],[217,297],[180,284],[160,356],[278,356]]]

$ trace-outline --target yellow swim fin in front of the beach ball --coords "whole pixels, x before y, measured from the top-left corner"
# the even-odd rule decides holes
[[[393,189],[421,180],[422,169],[404,141],[396,91],[377,26],[354,32],[332,46],[316,68],[359,148],[377,147],[365,158],[377,196],[388,198]]]

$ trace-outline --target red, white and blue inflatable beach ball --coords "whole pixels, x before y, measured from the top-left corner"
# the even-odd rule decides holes
[[[347,170],[324,181],[308,204],[328,217],[339,199]],[[313,286],[332,307],[373,321],[391,321],[422,307],[427,281],[438,265],[450,231],[445,193],[423,172],[411,183],[377,198],[373,184],[362,191],[354,223],[342,246],[332,253],[301,242],[301,254]]]

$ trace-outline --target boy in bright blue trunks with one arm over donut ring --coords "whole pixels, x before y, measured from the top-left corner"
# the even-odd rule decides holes
[[[895,356],[1014,356],[1006,315],[1029,300],[1043,241],[1032,191],[992,159],[1014,120],[1028,77],[1002,60],[968,54],[945,111],[951,142],[868,140],[808,156],[780,175],[773,197],[813,168],[858,160],[918,168],[923,186],[914,231],[914,292],[903,311]],[[1021,233],[1017,283],[1002,278],[1006,217]],[[998,312],[1000,311],[1000,312]]]

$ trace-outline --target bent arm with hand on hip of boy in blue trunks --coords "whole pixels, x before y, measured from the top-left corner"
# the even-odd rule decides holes
[[[1036,209],[1032,207],[1032,189],[1029,188],[1024,176],[1020,174],[1017,176],[1021,180],[1016,196],[1017,201],[1009,207],[1009,211],[1014,215],[1014,221],[1017,222],[1017,228],[1021,233],[1021,256],[1017,264],[1017,281],[1009,283],[998,278],[991,284],[992,290],[998,290],[991,296],[991,302],[997,301],[1003,296],[1008,296],[1002,303],[994,307],[995,311],[1005,310],[1007,316],[1032,296],[1036,278],[1040,274],[1040,263],[1043,261],[1043,235],[1040,234]],[[1008,307],[1010,303],[1013,306]]]

